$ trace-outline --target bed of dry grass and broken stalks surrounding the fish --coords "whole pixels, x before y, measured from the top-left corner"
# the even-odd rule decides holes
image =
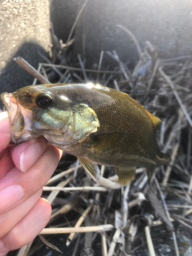
[[[120,29],[133,36],[129,30]],[[157,49],[150,42],[146,42],[142,52],[135,37],[134,41],[140,59],[133,71],[115,51],[101,52],[98,70],[86,69],[86,60],[80,55],[71,60],[70,46],[62,47],[57,40],[52,49],[52,63],[39,63],[37,73],[33,72],[33,75],[37,74],[34,75],[37,79],[40,73],[51,82],[92,81],[129,93],[148,111],[161,118],[163,124],[157,133],[158,144],[162,152],[172,156],[168,166],[156,168],[150,186],[144,168],[140,168],[131,184],[121,188],[114,168],[102,166],[99,184],[95,184],[74,158],[63,154],[54,176],[44,187],[43,195],[51,203],[53,212],[41,234],[71,233],[64,243],[69,245],[77,238],[73,256],[79,255],[79,243],[84,245],[81,255],[92,255],[94,232],[98,231],[101,232],[102,251],[97,252],[99,255],[135,255],[136,249],[145,243],[150,256],[155,255],[158,248],[154,249],[151,230],[154,226],[162,229],[162,223],[168,230],[166,236],[173,238],[172,255],[179,255],[177,230],[173,222],[192,229],[192,222],[188,219],[192,213],[192,56],[160,59]],[[112,71],[102,69],[106,54],[117,63]],[[50,194],[46,192],[48,190]],[[167,206],[169,198],[178,199],[178,205]],[[181,200],[182,204],[179,203]],[[62,223],[61,226],[59,223]],[[90,233],[80,237],[77,232]],[[18,255],[30,253],[31,245],[25,247],[26,251],[25,248],[20,249]],[[36,248],[34,243],[31,253]]]

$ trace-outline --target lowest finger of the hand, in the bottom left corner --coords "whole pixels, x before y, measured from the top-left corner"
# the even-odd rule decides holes
[[[47,225],[50,217],[51,205],[47,200],[39,198],[28,214],[0,239],[2,255],[30,243]]]

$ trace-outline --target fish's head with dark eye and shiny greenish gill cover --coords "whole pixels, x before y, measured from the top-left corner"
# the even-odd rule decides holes
[[[43,135],[56,146],[69,145],[97,131],[100,124],[95,111],[57,88],[29,86],[1,94],[9,116],[11,144]]]

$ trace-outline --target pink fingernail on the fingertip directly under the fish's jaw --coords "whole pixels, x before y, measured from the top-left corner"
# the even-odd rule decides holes
[[[20,154],[20,170],[25,173],[39,158],[41,147],[39,143],[33,143]]]

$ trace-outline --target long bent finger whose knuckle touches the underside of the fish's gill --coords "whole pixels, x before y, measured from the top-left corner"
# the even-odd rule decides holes
[[[0,213],[24,202],[44,186],[56,169],[60,157],[61,151],[49,144],[26,173],[16,167],[10,170],[0,181]]]

